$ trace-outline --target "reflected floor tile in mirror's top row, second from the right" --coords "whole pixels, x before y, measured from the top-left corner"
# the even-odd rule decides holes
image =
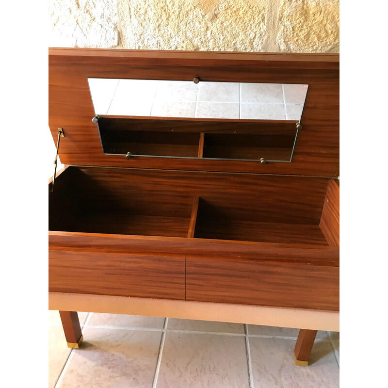
[[[241,102],[257,102],[261,104],[282,104],[283,92],[280,83],[241,84]]]

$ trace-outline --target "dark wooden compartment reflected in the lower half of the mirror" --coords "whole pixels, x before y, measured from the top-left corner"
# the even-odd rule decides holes
[[[100,116],[105,154],[290,162],[290,121]]]

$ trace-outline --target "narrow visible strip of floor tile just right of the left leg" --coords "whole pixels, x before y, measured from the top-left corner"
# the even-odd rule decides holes
[[[142,315],[101,314],[92,313],[88,326],[108,325],[126,327],[152,327],[162,329],[164,318],[146,317]]]

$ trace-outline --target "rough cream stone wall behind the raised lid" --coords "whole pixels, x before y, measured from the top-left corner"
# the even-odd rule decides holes
[[[339,0],[49,0],[52,47],[339,52]]]

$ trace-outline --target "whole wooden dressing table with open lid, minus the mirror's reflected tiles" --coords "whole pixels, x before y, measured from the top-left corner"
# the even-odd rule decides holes
[[[97,114],[88,79],[308,90],[300,120],[146,117]],[[299,327],[296,365],[339,331],[339,55],[52,48],[49,128],[68,346],[76,311]]]

